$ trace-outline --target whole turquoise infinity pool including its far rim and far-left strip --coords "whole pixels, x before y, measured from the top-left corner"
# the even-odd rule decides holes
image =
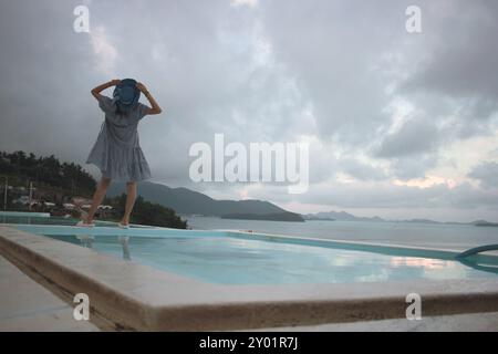
[[[0,223],[125,261],[222,284],[351,283],[495,278],[498,257],[459,261],[452,251],[153,227],[113,222],[74,228],[74,219],[0,214]],[[486,259],[487,264],[477,264]]]

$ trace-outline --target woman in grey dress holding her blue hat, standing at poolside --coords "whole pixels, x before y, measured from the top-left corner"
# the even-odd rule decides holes
[[[101,95],[103,90],[111,86],[116,86],[113,98]],[[138,102],[141,93],[147,97],[152,107]],[[132,79],[112,80],[93,88],[92,95],[105,113],[105,121],[86,163],[101,169],[102,179],[93,195],[87,216],[77,226],[94,226],[95,211],[111,180],[117,179],[126,181],[126,206],[120,227],[127,228],[136,198],[136,183],[151,178],[147,160],[138,144],[138,122],[147,114],[159,114],[162,110],[145,85]]]

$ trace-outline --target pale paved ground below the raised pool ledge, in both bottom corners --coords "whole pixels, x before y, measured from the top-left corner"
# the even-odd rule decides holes
[[[105,326],[98,327],[87,321],[75,321],[72,316],[72,304],[59,299],[44,287],[25,275],[3,257],[0,257],[0,332],[96,332],[112,330]],[[260,329],[256,331],[496,332],[498,331],[498,312],[433,316],[424,317],[421,321],[382,320]]]

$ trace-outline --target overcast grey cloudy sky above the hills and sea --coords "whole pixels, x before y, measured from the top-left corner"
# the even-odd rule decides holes
[[[80,4],[90,33],[73,30]],[[297,212],[498,221],[497,33],[492,0],[0,0],[0,149],[84,164],[103,119],[90,90],[136,77],[164,108],[139,126],[154,181]],[[309,142],[308,192],[193,183],[189,147],[216,133]]]

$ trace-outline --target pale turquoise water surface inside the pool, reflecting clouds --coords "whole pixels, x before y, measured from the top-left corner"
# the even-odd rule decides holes
[[[251,240],[229,236],[48,236],[114,257],[222,284],[350,283],[490,278],[454,260]]]

